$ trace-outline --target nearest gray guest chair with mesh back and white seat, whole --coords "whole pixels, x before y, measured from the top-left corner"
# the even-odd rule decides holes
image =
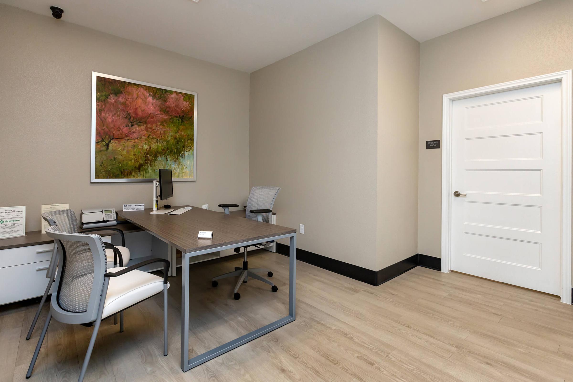
[[[129,267],[107,269],[107,255],[100,235],[68,233],[59,226],[46,229],[60,253],[56,286],[50,301],[50,311],[36,351],[30,361],[26,378],[32,375],[38,353],[48,331],[50,320],[64,324],[93,325],[93,333],[81,367],[78,382],[82,382],[92,355],[101,320],[123,312],[139,302],[163,292],[163,355],[167,356],[167,274],[166,259],[149,259]],[[138,270],[150,263],[163,263],[163,277]]]

